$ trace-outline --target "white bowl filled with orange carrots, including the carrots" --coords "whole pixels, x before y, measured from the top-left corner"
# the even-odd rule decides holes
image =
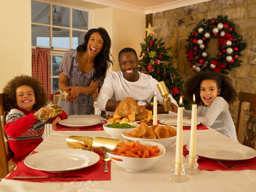
[[[165,154],[165,147],[156,142],[126,142],[115,152],[107,152],[117,166],[132,172],[152,169]]]

